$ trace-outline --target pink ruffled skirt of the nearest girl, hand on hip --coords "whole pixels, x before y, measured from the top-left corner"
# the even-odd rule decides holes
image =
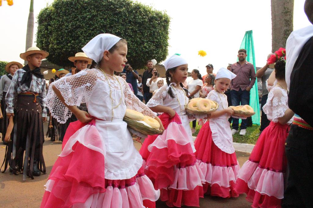
[[[155,207],[143,202],[159,198],[144,166],[129,179],[105,179],[103,139],[94,124],[77,126],[83,127],[69,127],[71,136],[52,168],[40,207]]]

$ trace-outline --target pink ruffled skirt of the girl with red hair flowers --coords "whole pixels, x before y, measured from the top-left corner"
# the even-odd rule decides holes
[[[242,166],[235,190],[247,194],[252,207],[281,207],[287,168],[288,124],[271,122],[261,133],[249,160]]]

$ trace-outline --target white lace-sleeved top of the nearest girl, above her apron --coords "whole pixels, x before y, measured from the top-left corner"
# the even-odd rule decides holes
[[[45,98],[52,116],[59,123],[65,123],[72,114],[56,96],[51,88],[52,85],[60,90],[66,104],[79,106],[80,103],[86,103],[88,113],[102,120],[109,121],[112,118],[110,86],[112,88],[113,107],[119,104],[122,96],[122,103],[113,109],[113,119],[123,119],[126,107],[147,116],[156,116],[155,113],[135,96],[123,78],[115,76],[113,80],[111,79],[112,77],[108,77],[109,80],[106,80],[103,73],[94,68],[82,70],[75,75],[63,77],[53,82],[49,86],[49,92]],[[119,79],[121,86],[117,79]],[[123,94],[121,94],[121,89]]]

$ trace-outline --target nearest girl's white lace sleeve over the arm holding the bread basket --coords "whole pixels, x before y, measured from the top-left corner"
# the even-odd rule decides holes
[[[128,83],[126,83],[126,81],[121,77],[118,77],[118,79],[121,83],[123,83],[123,92],[125,96],[126,107],[128,109],[141,112],[146,116],[150,116],[152,118],[156,117],[157,114],[154,113],[150,108],[148,108],[143,102],[141,102],[140,99],[137,98],[136,95],[131,91]]]

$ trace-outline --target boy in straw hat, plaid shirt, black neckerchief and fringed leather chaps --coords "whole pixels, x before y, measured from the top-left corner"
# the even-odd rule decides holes
[[[43,121],[47,117],[44,102],[46,82],[39,67],[41,60],[48,55],[48,52],[38,47],[30,47],[25,53],[21,53],[20,57],[27,60],[28,64],[16,71],[5,98],[8,104],[7,116],[13,116],[14,120],[10,172],[16,174],[23,171],[23,180],[26,180],[26,175],[33,179],[33,176],[40,175],[40,171],[46,172],[42,152]]]

